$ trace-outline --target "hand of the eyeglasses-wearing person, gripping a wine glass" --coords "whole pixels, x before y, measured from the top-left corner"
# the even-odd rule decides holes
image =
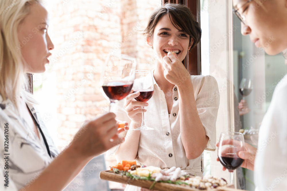
[[[216,143],[216,146],[218,147],[218,143]],[[244,159],[241,167],[247,168],[249,170],[254,170],[254,161],[256,156],[257,149],[248,143],[245,143],[245,151],[239,151],[238,156],[242,159]],[[219,161],[217,158],[216,161]],[[222,167],[222,170],[226,170],[225,167]]]

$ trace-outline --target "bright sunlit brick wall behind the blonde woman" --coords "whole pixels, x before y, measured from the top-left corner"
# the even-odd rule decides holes
[[[153,50],[141,31],[160,5],[161,0],[44,1],[55,48],[46,72],[34,75],[35,85],[42,82],[35,95],[44,113],[51,108],[45,122],[60,149],[85,120],[108,111],[99,84],[108,52],[135,57],[137,69],[154,68]],[[106,166],[114,164],[114,157],[106,158]]]

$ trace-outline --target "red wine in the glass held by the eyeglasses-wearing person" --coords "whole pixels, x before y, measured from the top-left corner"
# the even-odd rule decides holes
[[[228,170],[235,170],[243,163],[243,159],[235,154],[223,154],[218,156],[220,163]]]

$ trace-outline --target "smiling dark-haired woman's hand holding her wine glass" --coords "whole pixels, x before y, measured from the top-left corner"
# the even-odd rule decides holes
[[[133,92],[133,90],[131,90],[131,92]],[[139,92],[134,92],[127,95],[127,97],[125,97],[124,108],[127,113],[127,116],[131,119],[131,121],[135,124],[135,126],[139,127],[141,125],[141,119],[142,119],[141,106],[146,107],[148,106],[148,103],[133,100],[138,96]],[[143,109],[143,112],[146,112],[146,109]]]

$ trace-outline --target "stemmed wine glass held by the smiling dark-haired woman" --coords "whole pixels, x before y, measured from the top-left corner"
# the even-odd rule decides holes
[[[135,81],[133,83],[133,92],[139,92],[139,96],[135,98],[136,101],[147,102],[154,93],[154,80],[150,70],[136,70]],[[153,130],[148,127],[144,121],[144,107],[141,106],[141,126],[133,130]]]

